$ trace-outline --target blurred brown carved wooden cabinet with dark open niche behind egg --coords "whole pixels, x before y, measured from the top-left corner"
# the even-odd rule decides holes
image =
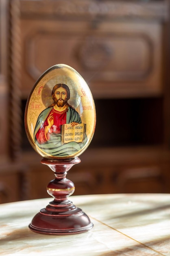
[[[22,199],[46,197],[54,178],[29,145],[24,108],[35,81],[59,63],[83,76],[96,103],[94,139],[68,173],[74,195],[169,193],[169,2],[9,0],[6,11],[13,111],[2,143],[19,166]]]

